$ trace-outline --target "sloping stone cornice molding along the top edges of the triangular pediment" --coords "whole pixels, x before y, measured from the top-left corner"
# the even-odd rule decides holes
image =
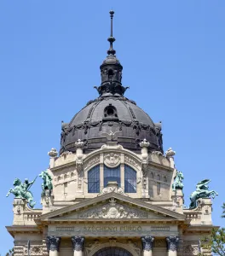
[[[183,215],[181,213],[172,212],[163,207],[153,206],[152,204],[148,204],[146,202],[136,200],[134,198],[130,198],[128,196],[120,195],[120,194],[117,194],[114,192],[108,193],[106,195],[100,195],[98,197],[95,197],[95,198],[87,200],[87,201],[82,201],[80,203],[74,204],[73,206],[64,207],[62,209],[55,210],[55,212],[48,212],[46,214],[43,214],[40,219],[45,220],[48,218],[56,218],[57,216],[60,216],[63,214],[68,214],[68,212],[82,210],[82,209],[84,209],[84,207],[85,208],[93,207],[95,204],[101,203],[102,201],[107,201],[111,198],[115,198],[118,201],[123,201],[123,203],[131,204],[134,207],[142,207],[146,211],[158,212],[159,214],[163,214],[164,217],[167,215],[168,218],[172,217],[172,218],[181,219],[181,220],[185,219],[185,215]]]

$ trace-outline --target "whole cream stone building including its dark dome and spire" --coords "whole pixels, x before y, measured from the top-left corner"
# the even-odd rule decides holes
[[[42,209],[27,206],[21,198],[27,199],[29,183],[17,180],[20,198],[7,227],[14,256],[191,256],[199,253],[201,236],[211,234],[211,199],[196,206],[196,196],[194,209],[184,207],[182,180],[172,186],[182,173],[175,151],[163,154],[161,123],[124,97],[113,14],[99,97],[62,122],[60,155],[52,148],[41,174]]]

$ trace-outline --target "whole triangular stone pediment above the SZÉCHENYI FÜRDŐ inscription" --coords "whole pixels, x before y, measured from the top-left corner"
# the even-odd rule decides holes
[[[86,200],[55,212],[43,214],[41,220],[83,219],[163,219],[184,220],[184,215],[128,196],[109,193]]]

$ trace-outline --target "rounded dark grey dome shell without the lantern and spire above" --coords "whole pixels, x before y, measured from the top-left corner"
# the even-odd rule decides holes
[[[136,103],[124,96],[100,96],[90,101],[62,125],[61,153],[75,152],[75,142],[84,141],[84,150],[92,151],[106,143],[106,133],[118,131],[118,143],[130,150],[140,150],[139,143],[147,139],[150,149],[163,152],[160,125]]]

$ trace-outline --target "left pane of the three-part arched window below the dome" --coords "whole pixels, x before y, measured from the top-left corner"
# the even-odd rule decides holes
[[[100,193],[100,166],[95,166],[88,172],[88,192]]]

